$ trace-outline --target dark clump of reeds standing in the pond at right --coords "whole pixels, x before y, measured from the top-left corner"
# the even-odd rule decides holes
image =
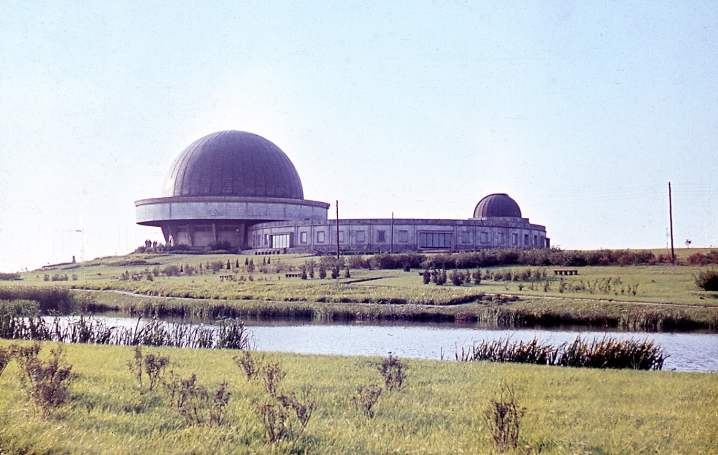
[[[661,370],[668,355],[648,339],[615,339],[603,337],[587,342],[581,337],[559,346],[543,344],[534,338],[529,342],[499,338],[462,347],[456,359],[462,362],[531,363],[562,367]]]

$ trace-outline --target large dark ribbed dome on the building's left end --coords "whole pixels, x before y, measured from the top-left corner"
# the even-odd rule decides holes
[[[193,142],[174,160],[163,195],[304,199],[294,164],[253,133],[219,131]]]

